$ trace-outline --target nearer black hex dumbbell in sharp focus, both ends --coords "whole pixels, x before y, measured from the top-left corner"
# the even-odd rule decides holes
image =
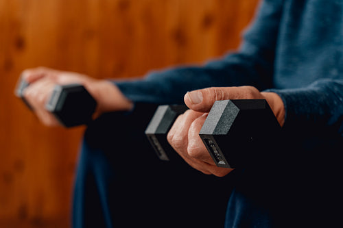
[[[161,160],[176,154],[167,142],[167,133],[185,110],[185,105],[159,106],[145,131]],[[240,168],[261,164],[272,144],[278,142],[280,129],[267,101],[226,100],[215,101],[199,136],[217,166]]]

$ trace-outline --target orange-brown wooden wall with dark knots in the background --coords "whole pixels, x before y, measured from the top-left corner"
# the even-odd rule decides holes
[[[0,227],[67,227],[84,127],[47,128],[14,97],[25,68],[97,78],[199,63],[239,45],[258,0],[0,0]]]

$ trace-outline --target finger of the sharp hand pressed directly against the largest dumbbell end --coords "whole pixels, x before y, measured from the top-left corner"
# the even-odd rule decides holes
[[[211,165],[215,165],[215,162],[213,162],[211,155],[207,151],[199,136],[200,129],[202,128],[202,125],[204,125],[207,115],[208,114],[203,114],[202,116],[196,118],[193,123],[191,123],[188,131],[187,152],[190,157]]]

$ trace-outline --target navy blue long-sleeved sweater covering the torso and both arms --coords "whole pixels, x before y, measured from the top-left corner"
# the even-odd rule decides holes
[[[340,125],[342,136],[342,4],[263,1],[237,53],[204,66],[156,71],[117,85],[132,101],[152,103],[182,103],[187,91],[211,86],[272,88],[285,103],[285,125]]]

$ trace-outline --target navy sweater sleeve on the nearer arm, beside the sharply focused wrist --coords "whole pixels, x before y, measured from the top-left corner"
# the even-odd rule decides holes
[[[323,129],[338,131],[342,120],[342,102],[340,91],[342,85],[323,79],[314,82],[306,88],[271,89],[285,105],[284,129],[301,132],[319,133]]]

